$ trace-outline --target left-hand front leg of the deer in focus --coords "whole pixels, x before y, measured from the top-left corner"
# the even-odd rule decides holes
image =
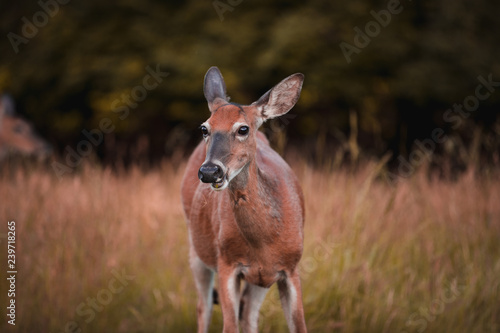
[[[223,333],[239,332],[240,278],[235,267],[219,259],[219,301],[224,322]]]

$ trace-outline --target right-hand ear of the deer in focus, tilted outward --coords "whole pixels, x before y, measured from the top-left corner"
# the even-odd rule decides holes
[[[304,74],[290,75],[265,93],[252,105],[257,107],[263,120],[284,115],[297,103],[304,82]]]

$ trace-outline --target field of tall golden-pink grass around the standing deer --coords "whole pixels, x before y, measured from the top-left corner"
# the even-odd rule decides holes
[[[453,181],[384,168],[292,167],[306,198],[300,269],[310,332],[500,332],[500,177]],[[90,163],[0,175],[0,233],[16,221],[16,326],[0,331],[194,332],[180,203],[185,162],[112,172]],[[0,269],[6,239],[0,238]],[[222,328],[215,306],[211,332]],[[261,332],[287,332],[276,287]]]

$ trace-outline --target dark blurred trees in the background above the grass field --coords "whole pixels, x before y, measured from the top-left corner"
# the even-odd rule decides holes
[[[436,127],[467,137],[478,123],[496,133],[499,92],[458,129],[443,113],[474,94],[479,75],[500,81],[500,3],[401,1],[400,12],[381,24],[375,15],[383,16],[391,1],[222,2],[231,10],[220,14],[212,1],[194,0],[3,2],[0,90],[17,99],[61,152],[82,139],[82,130],[111,119],[115,129],[106,140],[113,144],[97,147],[101,156],[140,137],[156,156],[194,143],[208,116],[202,81],[212,65],[241,103],[303,72],[302,97],[292,111],[298,117],[287,125],[297,142],[349,137],[350,110],[358,115],[361,147],[378,155],[408,152]],[[370,22],[378,30],[366,31]],[[25,36],[29,24],[37,30],[31,37]],[[349,63],[340,44],[354,45],[356,27],[372,37]],[[25,42],[15,46],[13,34]],[[138,96],[148,67],[168,77],[120,119],[123,96]]]

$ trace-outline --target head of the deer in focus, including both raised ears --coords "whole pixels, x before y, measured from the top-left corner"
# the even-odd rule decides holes
[[[297,102],[304,75],[293,74],[250,105],[230,103],[217,67],[205,75],[204,93],[211,112],[201,125],[207,156],[198,172],[204,183],[223,190],[254,158],[256,134],[267,119],[287,113]]]

